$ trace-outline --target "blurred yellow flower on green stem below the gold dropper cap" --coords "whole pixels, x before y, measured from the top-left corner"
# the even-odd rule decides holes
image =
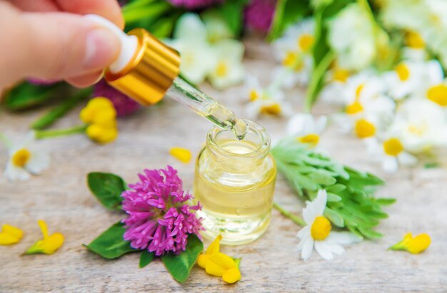
[[[86,135],[97,143],[111,143],[118,136],[116,110],[108,98],[91,99],[79,113],[79,118],[89,124]]]

